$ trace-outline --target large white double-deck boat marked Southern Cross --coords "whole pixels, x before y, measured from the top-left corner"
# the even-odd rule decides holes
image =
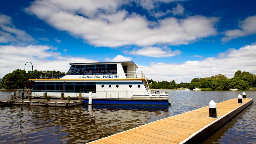
[[[44,72],[41,79],[31,79],[36,84],[32,96],[70,96],[77,99],[82,94],[88,103],[92,92],[92,104],[168,105],[168,92],[151,91],[143,72],[132,62],[70,63],[63,77]]]

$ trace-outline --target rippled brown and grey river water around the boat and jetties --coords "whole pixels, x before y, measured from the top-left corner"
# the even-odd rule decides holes
[[[1,106],[0,143],[86,143],[162,118],[237,98],[256,91],[169,92],[171,106],[80,105],[70,108]],[[0,99],[9,92],[0,91]],[[255,143],[256,106],[251,104],[202,143]]]

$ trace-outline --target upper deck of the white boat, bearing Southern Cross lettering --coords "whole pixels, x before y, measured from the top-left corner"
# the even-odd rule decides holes
[[[43,72],[40,80],[145,80],[146,77],[132,61],[126,62],[97,62],[97,63],[70,63],[71,67],[65,76],[60,72]]]

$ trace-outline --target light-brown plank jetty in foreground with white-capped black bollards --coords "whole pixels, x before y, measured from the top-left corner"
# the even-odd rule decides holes
[[[217,104],[217,118],[209,117],[207,106],[95,140],[90,144],[198,143],[252,102],[253,99],[243,99],[242,104],[237,99],[223,101]]]

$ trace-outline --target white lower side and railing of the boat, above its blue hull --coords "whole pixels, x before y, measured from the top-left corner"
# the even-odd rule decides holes
[[[100,98],[134,98],[134,97],[145,97],[145,98],[159,98],[168,99],[168,92],[157,91],[157,92],[131,92],[131,91],[45,91],[45,90],[33,90],[31,95],[33,97],[44,98],[44,92],[47,92],[47,96],[50,97],[60,97],[60,93],[64,93],[64,97],[79,97],[81,92],[82,98],[88,98],[89,92],[92,92],[92,98],[99,98],[99,95],[103,97]]]

